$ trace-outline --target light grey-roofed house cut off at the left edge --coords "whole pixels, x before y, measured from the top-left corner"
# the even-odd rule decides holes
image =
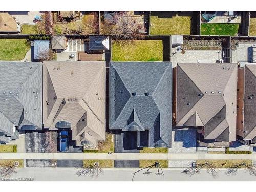
[[[42,65],[0,62],[0,143],[42,129]]]

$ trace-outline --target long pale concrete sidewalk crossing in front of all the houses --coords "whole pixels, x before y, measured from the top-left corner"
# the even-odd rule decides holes
[[[256,159],[253,154],[210,154],[210,153],[0,153],[0,159],[162,159],[162,160],[197,160],[197,159]]]

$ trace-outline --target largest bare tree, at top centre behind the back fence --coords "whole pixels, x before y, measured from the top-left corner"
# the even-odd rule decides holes
[[[115,40],[131,42],[135,39],[143,39],[140,30],[144,29],[144,23],[129,11],[117,11],[113,14],[113,23],[106,23],[106,33],[114,36]]]

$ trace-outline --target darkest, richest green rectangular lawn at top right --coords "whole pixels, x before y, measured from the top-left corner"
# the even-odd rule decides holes
[[[239,24],[201,24],[201,35],[236,35]]]

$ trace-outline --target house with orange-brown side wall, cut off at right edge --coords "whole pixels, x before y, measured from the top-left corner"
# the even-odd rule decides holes
[[[248,145],[256,143],[256,65],[238,69],[237,135]]]

